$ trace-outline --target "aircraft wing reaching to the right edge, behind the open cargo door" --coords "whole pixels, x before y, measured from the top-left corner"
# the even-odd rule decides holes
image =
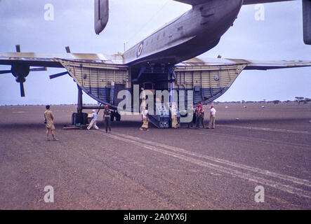
[[[280,61],[257,61],[246,59],[223,59],[223,58],[207,58],[199,59],[194,57],[185,62],[177,64],[177,66],[200,66],[200,65],[230,65],[230,64],[246,64],[244,70],[269,70],[269,69],[289,69],[297,67],[311,66],[310,60],[280,60]]]

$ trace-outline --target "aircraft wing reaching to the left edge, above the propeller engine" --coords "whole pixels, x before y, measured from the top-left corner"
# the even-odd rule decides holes
[[[97,62],[106,64],[123,64],[121,55],[102,55],[102,54],[44,54],[33,52],[0,52],[0,65],[25,64],[27,66],[44,66],[63,68],[57,59],[70,59],[81,62]]]

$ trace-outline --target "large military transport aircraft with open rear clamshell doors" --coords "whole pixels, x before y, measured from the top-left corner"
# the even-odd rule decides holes
[[[118,94],[122,90],[131,93],[130,111],[137,111],[135,96],[142,90],[185,91],[181,99],[187,105],[208,104],[220,97],[244,69],[283,69],[311,66],[310,61],[269,61],[258,62],[246,59],[199,59],[197,56],[215,47],[221,36],[233,25],[243,5],[295,0],[175,0],[192,5],[192,9],[147,38],[126,50],[123,54],[74,54],[67,48],[66,54],[39,54],[20,52],[0,53],[0,64],[11,65],[12,73],[20,83],[21,96],[25,96],[23,83],[30,71],[46,67],[65,68],[66,71],[50,76],[56,78],[70,75],[78,85],[78,113],[72,115],[72,123],[85,123],[86,109],[82,105],[82,90],[101,104],[109,105],[117,113]],[[303,1],[303,40],[311,44],[311,1]],[[108,0],[95,0],[95,33],[105,29],[109,18]],[[181,91],[183,90],[183,91]],[[187,90],[193,94],[188,102]],[[133,97],[134,96],[134,97]],[[171,99],[170,99],[171,100]],[[179,99],[180,100],[180,99]],[[154,125],[169,127],[170,118],[164,113],[161,99],[157,101],[150,116]]]

